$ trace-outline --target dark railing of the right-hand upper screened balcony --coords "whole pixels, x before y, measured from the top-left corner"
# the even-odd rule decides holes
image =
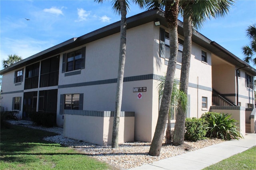
[[[40,75],[40,87],[49,87],[58,85],[59,71]]]

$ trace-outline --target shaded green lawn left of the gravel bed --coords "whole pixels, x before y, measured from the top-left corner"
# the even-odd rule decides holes
[[[55,133],[12,126],[1,128],[1,170],[106,170],[116,169],[73,148],[42,140]]]

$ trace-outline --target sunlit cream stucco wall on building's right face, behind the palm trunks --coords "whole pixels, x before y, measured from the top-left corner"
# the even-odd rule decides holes
[[[165,30],[168,30],[164,28]],[[155,48],[154,48],[154,74],[156,75],[165,75],[167,70],[167,65],[164,65],[164,58],[159,57],[159,28],[154,27],[154,38],[155,38]],[[184,38],[179,36],[182,40]],[[202,50],[207,52],[207,63],[202,62]],[[192,43],[192,51],[191,51],[191,63],[190,63],[190,75],[189,75],[189,83],[193,83],[195,85],[201,85],[204,87],[212,87],[212,62],[211,62],[211,53],[207,49],[204,49],[197,45],[196,43]],[[181,63],[177,64],[181,65]],[[176,69],[175,71],[175,79],[180,79],[180,69]],[[156,121],[158,117],[158,85],[159,81],[154,81],[154,98],[153,98],[153,121],[152,121],[152,129],[156,126]],[[188,87],[188,95],[190,95],[190,117],[201,117],[201,115],[207,111],[209,111],[210,106],[212,105],[212,91],[200,89],[196,87]],[[202,108],[202,97],[207,97],[208,103],[207,108]],[[155,120],[155,121],[154,121]]]

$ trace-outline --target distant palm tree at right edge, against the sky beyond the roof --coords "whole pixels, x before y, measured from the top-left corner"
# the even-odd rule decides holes
[[[252,63],[256,65],[256,58],[253,58],[253,55],[256,54],[256,23],[250,25],[246,30],[246,36],[250,39],[250,46],[245,45],[242,47],[243,53],[246,57],[244,57],[244,62]]]

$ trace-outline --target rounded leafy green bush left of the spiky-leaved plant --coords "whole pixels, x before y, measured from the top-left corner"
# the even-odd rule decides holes
[[[185,140],[197,141],[205,138],[208,123],[205,119],[187,118],[185,122]]]

